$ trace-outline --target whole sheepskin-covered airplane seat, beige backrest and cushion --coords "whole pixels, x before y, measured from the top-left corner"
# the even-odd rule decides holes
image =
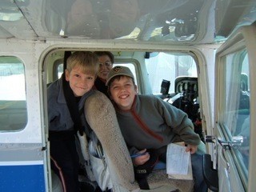
[[[85,116],[106,154],[113,190],[143,191],[139,189],[138,183],[135,182],[134,167],[126,142],[118,126],[114,106],[105,94],[97,90],[95,92],[86,99]],[[177,189],[182,191],[193,189],[193,181],[169,179],[165,170],[154,170],[149,175],[148,181],[151,190],[147,191],[170,192]]]

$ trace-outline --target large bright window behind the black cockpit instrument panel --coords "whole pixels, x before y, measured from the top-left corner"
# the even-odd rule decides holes
[[[194,58],[188,54],[150,53],[146,68],[153,94],[160,94],[162,80],[170,81],[169,94],[175,93],[174,81],[180,76],[197,77]]]

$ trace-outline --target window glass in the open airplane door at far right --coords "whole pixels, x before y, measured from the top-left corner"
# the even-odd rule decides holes
[[[222,98],[223,131],[234,147],[234,159],[238,168],[247,177],[250,141],[250,70],[246,50],[229,54],[224,58],[224,97]],[[240,146],[241,145],[241,146]]]

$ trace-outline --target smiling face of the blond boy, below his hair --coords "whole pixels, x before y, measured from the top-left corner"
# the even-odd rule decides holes
[[[84,74],[81,66],[74,66],[71,71],[65,70],[65,77],[75,97],[81,97],[94,86],[95,75]]]

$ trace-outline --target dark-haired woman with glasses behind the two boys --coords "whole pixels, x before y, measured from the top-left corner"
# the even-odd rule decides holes
[[[98,55],[99,62],[98,77],[94,82],[94,88],[106,94],[109,98],[107,94],[106,77],[113,67],[114,54],[110,51],[95,51],[94,53]]]

